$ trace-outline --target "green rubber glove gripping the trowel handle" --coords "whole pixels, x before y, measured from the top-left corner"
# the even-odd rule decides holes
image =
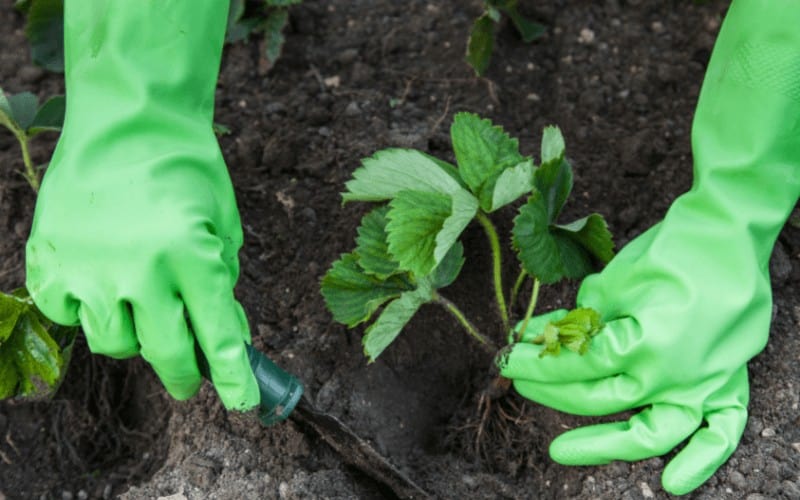
[[[48,317],[80,322],[92,352],[141,354],[177,399],[200,386],[197,342],[225,406],[247,410],[242,231],[212,132],[227,14],[223,1],[65,2],[67,113],[27,286]]]

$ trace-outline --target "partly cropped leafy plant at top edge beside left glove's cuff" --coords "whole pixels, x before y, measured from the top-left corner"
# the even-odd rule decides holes
[[[289,24],[289,6],[303,0],[262,0],[261,14],[245,18],[245,0],[231,0],[228,12],[228,32],[225,41],[235,43],[246,40],[253,33],[264,34],[264,59],[269,68],[281,56],[286,39],[283,30]]]

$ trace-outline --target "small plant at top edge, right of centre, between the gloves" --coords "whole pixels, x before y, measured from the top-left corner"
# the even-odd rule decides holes
[[[517,0],[484,0],[483,14],[472,24],[467,42],[467,63],[475,74],[483,76],[489,69],[494,49],[495,25],[506,15],[525,43],[530,43],[544,34],[544,26],[531,21],[517,9]]]

